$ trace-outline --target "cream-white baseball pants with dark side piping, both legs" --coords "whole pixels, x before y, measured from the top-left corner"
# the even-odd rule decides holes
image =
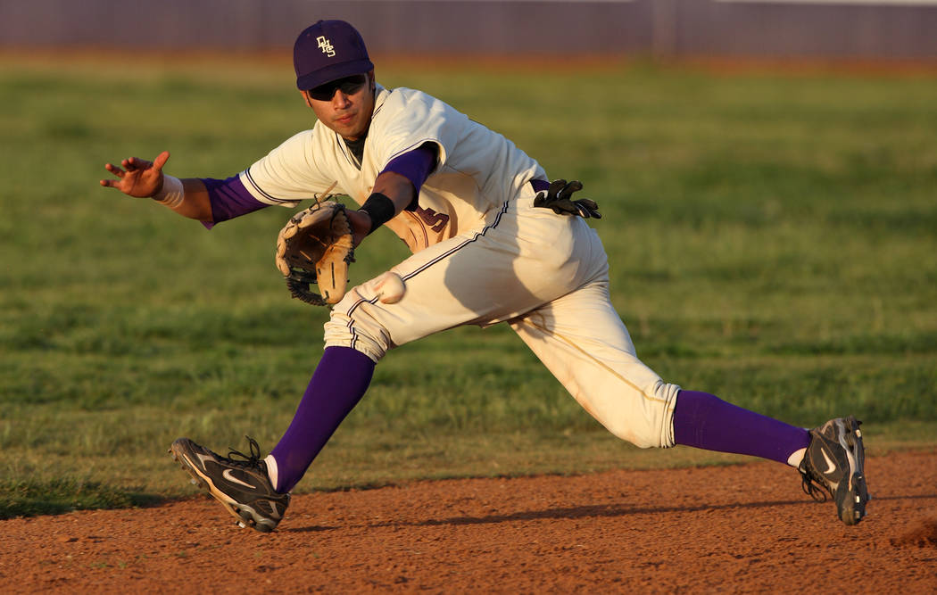
[[[642,448],[674,445],[679,387],[638,360],[609,301],[608,261],[578,216],[533,206],[524,186],[485,227],[431,245],[391,271],[406,292],[378,299],[379,281],[350,290],[325,324],[327,347],[375,362],[391,348],[463,324],[506,321],[602,425]]]

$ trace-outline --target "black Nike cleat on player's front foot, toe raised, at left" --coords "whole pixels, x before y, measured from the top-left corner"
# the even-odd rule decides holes
[[[290,494],[279,494],[270,482],[260,446],[250,442],[250,456],[232,450],[228,457],[202,448],[187,438],[172,442],[170,453],[192,476],[192,483],[208,490],[241,527],[261,533],[274,530],[290,506]],[[229,458],[239,456],[241,460]]]

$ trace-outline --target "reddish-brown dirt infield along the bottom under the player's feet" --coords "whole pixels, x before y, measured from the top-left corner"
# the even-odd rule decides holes
[[[867,467],[853,528],[761,462],[302,495],[270,535],[208,498],[12,519],[0,591],[937,591],[937,454]]]

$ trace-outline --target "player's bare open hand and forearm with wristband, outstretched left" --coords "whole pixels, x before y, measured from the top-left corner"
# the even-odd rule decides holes
[[[163,173],[169,158],[169,151],[163,151],[153,161],[128,157],[121,161],[120,167],[108,163],[104,169],[117,179],[101,180],[100,184],[116,188],[127,196],[154,199],[181,216],[211,221],[212,205],[205,185],[198,178],[178,180]]]

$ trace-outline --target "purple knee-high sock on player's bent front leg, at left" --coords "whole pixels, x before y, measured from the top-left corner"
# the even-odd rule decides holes
[[[361,351],[326,348],[290,427],[270,452],[276,460],[277,492],[289,492],[299,483],[338,424],[361,400],[373,374],[374,362]]]

